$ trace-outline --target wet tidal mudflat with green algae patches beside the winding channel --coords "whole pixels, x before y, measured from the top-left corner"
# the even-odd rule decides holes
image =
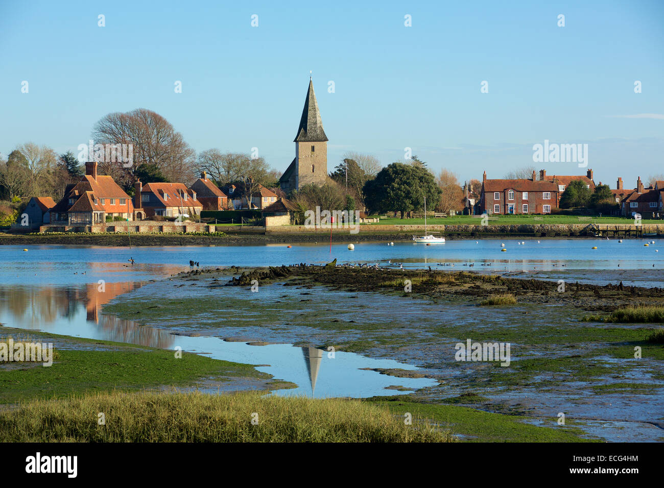
[[[659,287],[568,283],[559,291],[557,282],[471,272],[280,269],[183,273],[118,297],[104,313],[180,333],[389,358],[436,380],[400,401],[470,406],[554,430],[564,414],[588,439],[664,439],[664,349],[645,341],[658,325],[582,321],[622,305],[661,305]],[[505,292],[515,305],[479,305]],[[510,343],[509,366],[456,361],[467,339]]]

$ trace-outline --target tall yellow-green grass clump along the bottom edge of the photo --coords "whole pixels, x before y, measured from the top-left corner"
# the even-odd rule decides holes
[[[104,425],[98,424],[104,414]],[[254,423],[252,423],[252,420]],[[257,423],[256,423],[257,422]],[[0,412],[0,442],[454,442],[452,434],[361,400],[110,392],[33,400]]]

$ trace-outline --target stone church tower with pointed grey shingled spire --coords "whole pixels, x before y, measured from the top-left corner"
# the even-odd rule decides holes
[[[311,183],[321,185],[327,177],[327,135],[311,79],[294,142],[295,159],[279,179],[279,185],[286,193]]]

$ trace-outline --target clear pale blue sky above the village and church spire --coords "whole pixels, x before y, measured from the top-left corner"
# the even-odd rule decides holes
[[[548,139],[587,143],[612,187],[664,173],[662,1],[0,0],[0,70],[4,155],[26,141],[76,153],[104,115],[148,108],[199,152],[258,147],[283,170],[311,70],[329,170],[346,151],[387,165],[411,147],[461,181],[585,173],[533,163]]]

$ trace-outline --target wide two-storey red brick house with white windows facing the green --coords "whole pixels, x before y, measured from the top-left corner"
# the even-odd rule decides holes
[[[558,185],[554,181],[532,179],[487,179],[482,176],[480,208],[489,215],[550,214],[558,208]]]

